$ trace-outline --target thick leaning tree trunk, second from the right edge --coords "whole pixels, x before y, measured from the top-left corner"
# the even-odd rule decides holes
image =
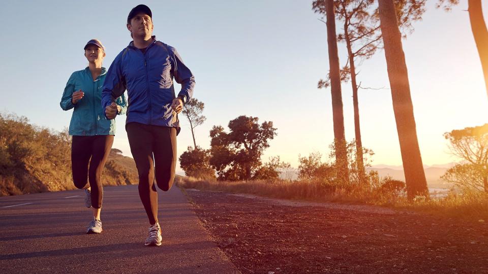
[[[388,79],[390,81],[393,112],[400,142],[407,197],[417,195],[429,198],[422,157],[418,147],[417,130],[413,116],[412,98],[408,82],[407,64],[402,47],[393,0],[378,0],[380,27],[385,48]]]

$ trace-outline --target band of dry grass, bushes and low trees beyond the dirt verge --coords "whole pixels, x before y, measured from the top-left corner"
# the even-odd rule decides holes
[[[267,126],[265,126],[267,125]],[[277,133],[271,122],[258,123],[258,118],[240,116],[229,122],[229,132],[221,126],[210,131],[210,149],[189,147],[180,156],[186,178],[177,184],[183,188],[252,194],[270,198],[317,202],[375,204],[385,207],[416,210],[449,217],[488,220],[486,170],[488,163],[488,126],[453,130],[444,134],[452,153],[464,160],[447,170],[445,181],[454,186],[444,197],[407,195],[406,184],[390,177],[380,178],[371,167],[374,152],[362,149],[362,162],[357,162],[356,141],[345,144],[349,180],[341,179],[335,162],[335,142],[324,157],[319,152],[298,155],[298,168],[280,161],[278,156],[261,162],[268,142]],[[257,136],[260,139],[257,139]],[[267,139],[263,138],[267,136]],[[259,148],[252,151],[252,148]],[[469,151],[465,157],[457,151]],[[474,159],[474,156],[477,158]],[[484,160],[484,161],[483,161]],[[469,168],[460,168],[469,167]],[[298,178],[292,179],[290,173]],[[459,180],[456,180],[459,179]],[[461,180],[462,179],[462,180]]]

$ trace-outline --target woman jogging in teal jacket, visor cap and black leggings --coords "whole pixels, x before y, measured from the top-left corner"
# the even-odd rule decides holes
[[[93,220],[89,223],[86,233],[100,233],[103,198],[101,175],[112,148],[115,120],[105,118],[101,105],[102,86],[106,75],[106,69],[102,67],[105,47],[99,40],[92,39],[86,43],[84,50],[88,66],[71,75],[60,105],[65,111],[74,108],[69,129],[70,135],[73,136],[73,183],[77,188],[85,190],[85,205],[87,208],[93,208]],[[124,114],[127,109],[124,94],[115,102],[117,114]]]

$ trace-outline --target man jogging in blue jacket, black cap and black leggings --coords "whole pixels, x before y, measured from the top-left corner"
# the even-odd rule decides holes
[[[158,187],[168,191],[175,176],[177,114],[193,95],[195,78],[176,50],[156,40],[153,14],[145,5],[133,8],[127,29],[134,39],[110,66],[102,92],[107,119],[117,113],[114,98],[127,89],[126,130],[139,173],[139,196],[149,219],[146,246],[160,246]],[[181,84],[175,97],[173,78]]]

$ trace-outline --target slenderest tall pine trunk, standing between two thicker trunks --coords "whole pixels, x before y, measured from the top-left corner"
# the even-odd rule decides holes
[[[354,105],[354,133],[356,137],[356,163],[359,176],[359,184],[365,184],[364,162],[362,156],[361,128],[359,127],[359,104],[357,99],[356,67],[354,65],[354,54],[352,53],[351,40],[349,39],[349,18],[344,20],[344,37],[346,38],[347,53],[349,55],[349,66],[352,83],[352,102]]]

